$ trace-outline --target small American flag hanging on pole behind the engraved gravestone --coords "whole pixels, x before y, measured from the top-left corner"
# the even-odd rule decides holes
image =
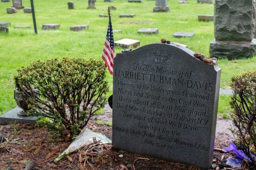
[[[113,76],[113,59],[115,54],[114,48],[114,37],[113,37],[113,30],[111,24],[111,17],[109,14],[109,22],[108,22],[108,31],[105,40],[105,45],[103,49],[102,59],[105,61],[108,71]]]

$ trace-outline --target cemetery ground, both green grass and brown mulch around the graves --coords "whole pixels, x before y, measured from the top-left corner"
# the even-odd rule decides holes
[[[81,57],[101,59],[105,42],[105,30],[108,26],[107,17],[99,17],[99,14],[107,14],[108,6],[115,6],[111,10],[113,29],[121,29],[122,33],[114,33],[114,40],[130,38],[140,40],[140,46],[160,42],[161,38],[188,45],[192,51],[209,56],[209,43],[214,39],[213,22],[199,22],[198,14],[213,15],[213,4],[198,4],[196,0],[189,0],[187,4],[179,4],[178,0],[169,0],[170,12],[153,13],[154,1],[143,3],[128,3],[126,0],[115,0],[113,3],[104,3],[103,0],[95,3],[96,9],[86,9],[88,1],[75,0],[74,10],[67,9],[67,1],[44,0],[35,1],[35,15],[38,35],[34,34],[31,14],[24,14],[18,10],[15,14],[7,14],[6,8],[10,3],[0,3],[0,21],[9,21],[9,34],[0,34],[0,115],[16,107],[13,99],[14,75],[17,69],[36,60],[47,60],[62,57]],[[23,6],[30,7],[30,0],[23,0]],[[119,14],[136,14],[134,18],[119,18]],[[52,31],[41,30],[46,23],[58,23],[60,28]],[[70,31],[70,26],[89,24],[84,31]],[[14,26],[31,26],[31,28],[15,29]],[[137,34],[140,28],[158,28],[159,34]],[[174,38],[175,32],[194,32],[192,38]],[[116,47],[115,53],[122,51]],[[256,69],[256,57],[228,61],[219,59],[218,65],[221,71],[221,88],[229,88],[230,77],[246,70]],[[107,73],[107,80],[112,94],[112,77]],[[220,95],[218,117],[229,118],[230,96]],[[102,113],[111,112],[102,110]],[[106,123],[107,122],[107,123]],[[106,125],[108,124],[108,125]],[[96,120],[89,127],[105,134],[111,139],[110,120]],[[35,160],[36,169],[110,169],[119,168],[120,164],[128,169],[197,169],[183,164],[173,164],[150,157],[132,153],[109,151],[106,155],[88,158],[90,164],[84,161],[79,163],[79,153],[70,155],[70,158],[62,159],[58,164],[52,163],[70,144],[70,139],[50,134],[43,127],[32,125],[12,124],[0,126],[0,132],[9,139],[0,148],[0,169],[6,168],[7,162],[14,169],[22,169],[29,160]],[[225,132],[216,136],[215,147],[224,148],[229,143],[229,135]],[[223,153],[215,152],[215,159],[220,160]],[[230,153],[228,153],[230,154]],[[226,155],[228,155],[226,154]],[[122,158],[119,155],[123,155]],[[140,159],[143,158],[143,159]],[[144,159],[144,158],[148,158]],[[125,167],[123,167],[125,169]]]

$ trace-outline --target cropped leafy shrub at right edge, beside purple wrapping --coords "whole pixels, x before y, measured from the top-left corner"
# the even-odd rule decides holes
[[[232,129],[236,146],[252,161],[256,168],[256,71],[247,71],[231,78],[231,88],[234,91],[230,105],[234,109]]]

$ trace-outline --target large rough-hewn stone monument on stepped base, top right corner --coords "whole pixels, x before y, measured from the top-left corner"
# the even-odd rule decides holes
[[[256,51],[255,0],[215,0],[211,57],[238,59]]]

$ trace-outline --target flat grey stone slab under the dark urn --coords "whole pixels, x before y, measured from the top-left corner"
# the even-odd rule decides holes
[[[12,122],[36,124],[36,121],[39,120],[39,117],[35,116],[18,116],[17,113],[20,111],[22,111],[22,109],[16,107],[7,113],[4,113],[0,116],[0,125],[8,125]]]

